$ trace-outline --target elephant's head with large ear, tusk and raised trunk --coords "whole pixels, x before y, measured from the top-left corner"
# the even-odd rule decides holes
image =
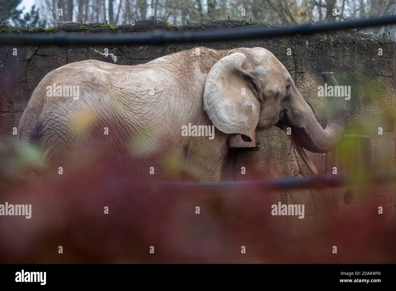
[[[336,85],[333,73],[322,77],[328,85]],[[314,173],[303,148],[330,152],[345,129],[341,99],[329,97],[323,129],[284,65],[264,48],[233,49],[215,63],[206,78],[204,110],[217,129],[240,133],[246,141],[251,141],[256,128],[290,127],[289,139]]]

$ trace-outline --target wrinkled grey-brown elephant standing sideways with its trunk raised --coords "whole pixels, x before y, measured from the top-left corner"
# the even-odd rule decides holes
[[[336,85],[333,73],[322,78]],[[345,130],[341,100],[327,103],[323,129],[287,69],[265,48],[199,47],[136,66],[88,60],[41,80],[18,141],[39,146],[47,170],[85,151],[100,152],[104,171],[120,177],[219,181],[228,137],[251,141],[256,130],[277,126],[291,131],[290,141],[316,173],[304,149],[330,152]]]

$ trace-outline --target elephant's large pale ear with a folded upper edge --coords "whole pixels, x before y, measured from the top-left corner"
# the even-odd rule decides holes
[[[225,133],[240,133],[251,140],[259,122],[260,89],[247,72],[247,56],[230,51],[209,71],[204,91],[204,110],[213,125]]]

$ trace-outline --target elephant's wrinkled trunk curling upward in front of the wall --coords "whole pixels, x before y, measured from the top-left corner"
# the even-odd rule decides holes
[[[293,139],[310,152],[330,152],[341,141],[345,130],[342,97],[337,96],[337,82],[333,73],[322,73],[327,86],[333,86],[334,97],[327,97],[327,126],[323,129],[308,103],[293,86],[294,98],[286,112],[287,122],[292,126]]]

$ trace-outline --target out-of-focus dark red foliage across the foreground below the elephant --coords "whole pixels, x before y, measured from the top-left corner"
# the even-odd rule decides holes
[[[0,262],[396,262],[395,224],[370,195],[353,211],[328,211],[307,224],[307,217],[272,216],[279,198],[259,186],[160,186],[92,172],[3,180],[0,203],[32,204],[32,218],[0,217]]]

